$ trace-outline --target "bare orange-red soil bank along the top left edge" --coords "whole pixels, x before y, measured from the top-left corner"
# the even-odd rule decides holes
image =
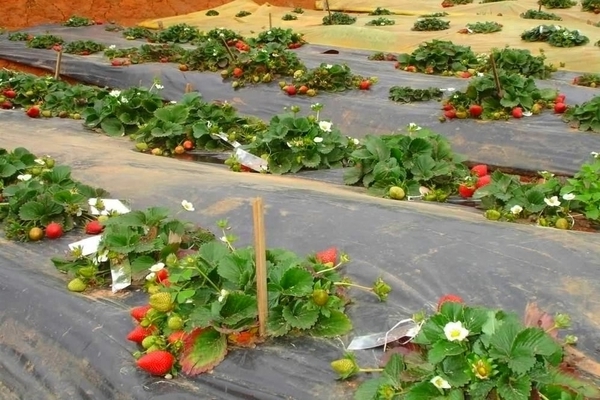
[[[264,4],[267,1],[256,2]],[[207,10],[229,3],[229,0],[2,0],[1,3],[0,27],[20,29],[62,22],[72,15],[130,26],[147,19]],[[268,3],[279,7],[315,7],[314,0],[269,0]]]

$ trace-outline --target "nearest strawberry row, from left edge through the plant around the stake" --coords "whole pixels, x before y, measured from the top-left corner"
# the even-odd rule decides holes
[[[58,239],[77,227],[99,237],[93,251],[70,246],[67,257],[52,259],[70,277],[70,291],[112,283],[113,290],[133,284],[148,293],[148,304],[131,310],[135,328],[127,339],[139,345],[133,354],[137,365],[152,375],[207,372],[232,347],[253,347],[268,338],[344,335],[352,329],[349,288],[380,301],[391,290],[381,278],[365,287],[344,277],[340,270],[349,258],[336,248],[305,258],[269,249],[268,331],[260,337],[255,252],[234,247],[237,238],[227,221],[218,222],[216,239],[170,217],[166,208],[113,211],[102,198],[106,192],[72,180],[68,166],[24,148],[1,150],[0,167],[0,221],[7,237]],[[195,211],[190,202],[181,204]]]

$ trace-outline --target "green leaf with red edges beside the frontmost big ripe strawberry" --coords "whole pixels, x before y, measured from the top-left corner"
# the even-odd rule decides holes
[[[195,330],[184,341],[179,358],[183,373],[194,376],[212,370],[227,355],[227,338],[214,329]]]

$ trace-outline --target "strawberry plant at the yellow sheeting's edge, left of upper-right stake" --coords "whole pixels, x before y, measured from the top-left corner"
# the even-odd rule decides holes
[[[463,72],[478,65],[477,57],[468,46],[446,40],[432,40],[419,45],[411,54],[398,56],[398,68],[415,68],[418,72],[445,75]]]

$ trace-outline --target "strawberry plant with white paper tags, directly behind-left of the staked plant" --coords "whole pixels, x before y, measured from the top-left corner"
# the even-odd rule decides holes
[[[102,210],[102,205],[95,206]],[[161,207],[109,215],[102,226],[104,232],[94,254],[85,256],[80,248],[75,248],[66,257],[52,258],[54,266],[71,279],[71,291],[104,286],[111,282],[112,272],[119,270],[124,270],[129,279],[139,279],[140,274],[167,255],[197,250],[215,238],[206,229],[170,217],[169,210]],[[74,282],[80,290],[73,290]]]

